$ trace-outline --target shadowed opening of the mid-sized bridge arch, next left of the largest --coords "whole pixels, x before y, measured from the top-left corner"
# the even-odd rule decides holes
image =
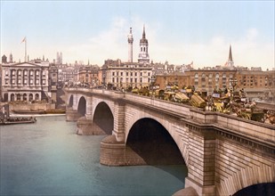
[[[106,102],[100,102],[93,113],[93,124],[106,135],[112,135],[114,130],[114,116]]]

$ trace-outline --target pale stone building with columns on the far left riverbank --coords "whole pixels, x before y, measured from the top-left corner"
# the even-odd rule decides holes
[[[2,63],[4,102],[49,100],[49,62]]]

